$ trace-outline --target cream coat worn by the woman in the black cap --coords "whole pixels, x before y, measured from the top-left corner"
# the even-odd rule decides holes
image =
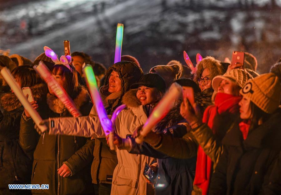
[[[122,110],[116,119],[116,132],[121,138],[133,135],[135,129],[147,121],[145,107],[132,98],[136,96],[137,90],[130,90],[127,93],[132,95],[124,96],[122,102],[127,109]],[[117,149],[118,164],[113,172],[111,195],[132,194],[146,195],[154,194],[154,190],[146,183],[143,170],[145,163],[148,165],[156,162],[156,159],[145,155],[130,154],[126,150]]]

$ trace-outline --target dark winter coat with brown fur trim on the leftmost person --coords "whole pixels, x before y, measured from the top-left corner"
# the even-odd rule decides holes
[[[34,99],[41,102],[47,94],[43,84],[30,87]],[[0,106],[4,110],[0,121],[0,194],[30,194],[30,190],[8,190],[8,184],[30,184],[32,154],[25,154],[19,144],[20,119],[23,106],[14,93],[1,97]]]

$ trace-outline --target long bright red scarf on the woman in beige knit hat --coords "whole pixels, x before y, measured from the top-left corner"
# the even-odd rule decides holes
[[[239,101],[241,96],[233,96],[224,93],[217,93],[215,98],[215,105],[208,106],[204,111],[202,122],[206,123],[216,134],[219,131],[219,126],[222,125],[222,121],[215,121],[215,117],[228,112],[235,114],[239,112]],[[194,185],[202,189],[202,195],[208,194],[208,188],[210,183],[212,170],[212,161],[203,151],[202,147],[198,147],[197,162],[195,170]]]

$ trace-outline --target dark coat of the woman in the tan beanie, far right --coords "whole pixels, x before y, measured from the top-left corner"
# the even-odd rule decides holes
[[[280,117],[279,109],[250,130],[246,140],[238,123],[233,124],[222,141],[225,146],[211,179],[210,195],[268,194],[262,187],[270,184],[274,160],[281,149]]]

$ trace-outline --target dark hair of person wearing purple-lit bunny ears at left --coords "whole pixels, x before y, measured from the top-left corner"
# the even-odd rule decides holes
[[[78,74],[75,70],[75,68],[73,66],[70,66],[69,70],[66,66],[64,66],[63,64],[56,64],[53,67],[53,71],[52,74],[53,75],[60,75],[62,78],[65,78],[65,82],[66,82],[66,92],[68,93],[68,95],[73,98],[74,95],[77,92],[77,88],[78,88]]]

